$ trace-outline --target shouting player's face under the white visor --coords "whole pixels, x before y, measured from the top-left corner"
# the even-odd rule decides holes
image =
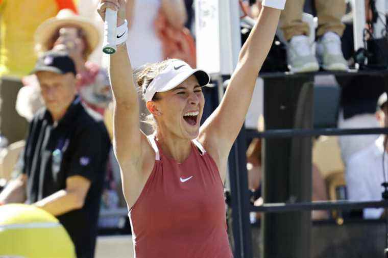
[[[158,94],[160,99],[155,101],[158,130],[179,138],[197,138],[205,98],[196,76],[191,75],[174,89]]]

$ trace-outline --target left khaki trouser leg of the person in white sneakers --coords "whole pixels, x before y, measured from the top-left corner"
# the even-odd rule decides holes
[[[306,22],[302,21],[303,6],[305,0],[287,1],[284,11],[280,16],[280,29],[284,33],[285,40],[289,41],[297,35],[309,35],[310,29]]]

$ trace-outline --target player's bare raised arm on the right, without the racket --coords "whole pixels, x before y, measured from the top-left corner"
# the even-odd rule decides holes
[[[285,0],[269,0],[282,4]],[[269,53],[280,17],[279,9],[263,7],[251,34],[240,50],[221,104],[206,120],[199,139],[213,159],[221,163],[244,123],[258,72]],[[220,164],[219,164],[220,165]]]

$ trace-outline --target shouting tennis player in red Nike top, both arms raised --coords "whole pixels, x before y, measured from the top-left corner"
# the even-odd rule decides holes
[[[155,133],[139,130],[138,100],[125,42],[110,57],[114,150],[120,164],[136,257],[232,257],[223,182],[229,151],[243,125],[258,72],[285,0],[264,0],[240,51],[220,106],[200,127],[202,86],[209,75],[166,60],[136,72]],[[101,0],[99,13],[118,11],[116,33],[127,31],[124,0]],[[124,38],[122,36],[120,38]]]

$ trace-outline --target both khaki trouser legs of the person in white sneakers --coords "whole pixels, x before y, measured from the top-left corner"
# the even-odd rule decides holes
[[[296,35],[309,35],[308,24],[302,21],[305,0],[287,0],[285,9],[280,16],[280,28],[288,41]],[[315,0],[318,16],[317,37],[328,31],[342,36],[345,25],[341,18],[345,15],[345,0]]]

